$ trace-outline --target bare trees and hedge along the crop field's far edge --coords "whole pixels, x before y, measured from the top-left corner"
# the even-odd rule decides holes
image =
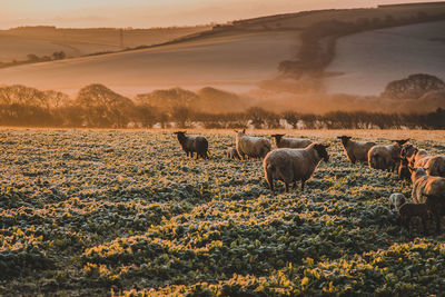
[[[102,85],[85,87],[75,99],[58,91],[9,86],[0,88],[0,125],[67,128],[445,129],[445,110],[442,108],[426,113],[335,111],[324,115],[273,112],[261,107],[239,107],[238,111],[224,109],[225,105],[234,105],[237,100],[239,98],[236,95],[212,88],[205,88],[198,93],[179,88],[159,90],[131,100]],[[218,106],[217,101],[224,102]],[[206,107],[206,102],[207,106],[216,105],[218,109],[200,108]]]

